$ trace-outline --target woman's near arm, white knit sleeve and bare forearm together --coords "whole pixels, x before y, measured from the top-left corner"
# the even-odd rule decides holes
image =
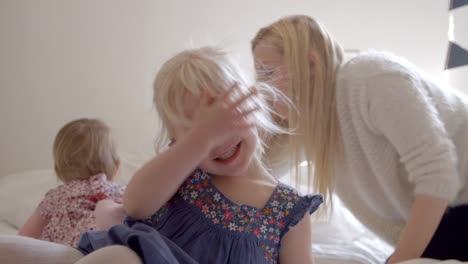
[[[414,186],[394,263],[421,256],[461,185],[455,146],[422,80],[393,74],[374,79],[369,88],[370,127],[396,149]]]

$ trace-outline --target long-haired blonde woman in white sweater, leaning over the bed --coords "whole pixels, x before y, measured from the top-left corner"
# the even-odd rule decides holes
[[[306,161],[307,182],[328,199],[336,192],[395,246],[389,263],[468,260],[467,101],[386,53],[343,63],[340,45],[307,16],[262,28],[252,51],[258,78],[295,106],[272,102],[293,130],[272,139],[273,168],[299,175]]]

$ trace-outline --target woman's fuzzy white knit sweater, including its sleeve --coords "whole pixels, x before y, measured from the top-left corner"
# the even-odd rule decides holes
[[[415,194],[468,203],[468,102],[408,62],[369,52],[344,64],[336,101],[344,158],[335,190],[395,244]]]

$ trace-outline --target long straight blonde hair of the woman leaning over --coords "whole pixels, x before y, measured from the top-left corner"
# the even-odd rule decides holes
[[[306,164],[307,185],[330,202],[341,147],[335,82],[343,51],[322,25],[305,15],[284,17],[260,29],[252,40],[252,51],[260,42],[283,56],[289,77],[287,95],[297,108],[288,114],[288,126],[296,131],[286,136],[289,147],[271,151],[289,160],[292,155],[289,168],[295,169],[298,185],[301,164]]]

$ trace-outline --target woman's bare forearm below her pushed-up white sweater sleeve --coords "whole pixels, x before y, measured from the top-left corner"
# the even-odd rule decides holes
[[[419,258],[431,241],[446,209],[446,200],[416,195],[408,223],[388,263]]]

